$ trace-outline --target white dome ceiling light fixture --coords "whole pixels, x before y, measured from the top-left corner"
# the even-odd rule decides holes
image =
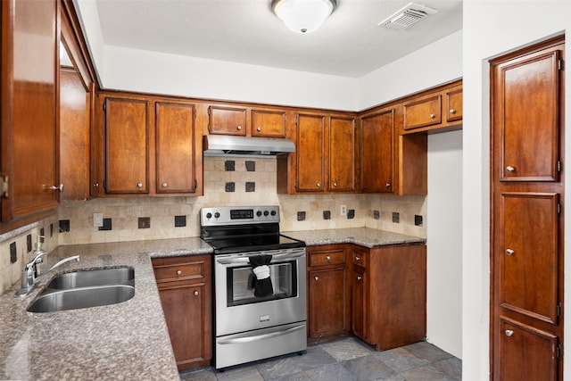
[[[335,11],[337,0],[272,0],[271,10],[296,33],[310,33]]]

